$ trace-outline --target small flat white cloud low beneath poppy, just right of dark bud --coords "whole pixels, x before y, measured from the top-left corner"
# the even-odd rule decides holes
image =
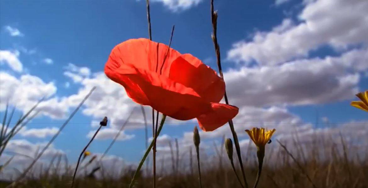
[[[96,130],[89,131],[87,134],[87,138],[92,138],[92,136],[95,134]],[[113,129],[113,128],[101,128],[101,130],[96,135],[95,139],[97,140],[106,140],[106,139],[114,139],[115,136],[119,130]],[[125,134],[124,131],[120,132],[120,135],[118,136],[117,140],[123,141],[123,140],[129,140],[134,138],[135,135],[128,135]]]

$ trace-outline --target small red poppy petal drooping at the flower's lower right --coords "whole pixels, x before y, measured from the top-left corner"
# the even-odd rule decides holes
[[[209,113],[197,117],[199,127],[203,131],[213,131],[238,114],[238,107],[222,103],[211,103],[212,110]]]

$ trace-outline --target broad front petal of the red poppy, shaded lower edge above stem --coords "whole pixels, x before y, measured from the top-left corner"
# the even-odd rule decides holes
[[[123,85],[135,102],[150,105],[177,120],[190,120],[211,110],[210,103],[193,89],[156,72],[129,65],[121,65],[113,72],[105,68],[105,72],[110,79]]]

